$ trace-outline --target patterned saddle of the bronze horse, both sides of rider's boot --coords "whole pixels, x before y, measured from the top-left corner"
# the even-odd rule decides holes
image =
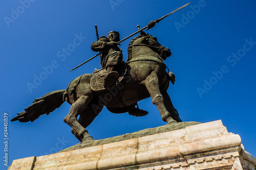
[[[121,64],[119,64],[117,68],[117,72],[119,73],[118,81],[116,82],[115,85],[111,86],[111,88],[116,87],[123,80],[127,72],[127,66],[126,66],[126,63],[124,63],[124,61],[122,61]],[[106,68],[105,67],[101,69],[95,68],[95,71],[93,71],[92,75],[93,76],[90,81],[91,89],[97,92],[106,90],[106,88],[104,87],[104,83],[105,83],[104,79],[105,79],[105,76],[108,75]]]

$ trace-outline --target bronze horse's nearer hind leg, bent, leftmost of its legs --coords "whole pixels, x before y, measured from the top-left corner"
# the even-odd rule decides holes
[[[82,95],[80,98],[71,105],[69,114],[64,118],[64,122],[71,126],[72,133],[80,140],[87,139],[93,140],[88,131],[78,123],[77,116],[86,109],[88,103],[91,101],[92,96]]]

